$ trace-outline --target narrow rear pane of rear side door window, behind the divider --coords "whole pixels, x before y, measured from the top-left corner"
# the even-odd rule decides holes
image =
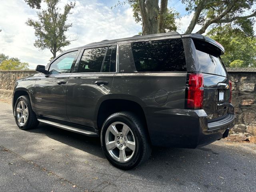
[[[116,45],[108,47],[102,72],[116,72]]]

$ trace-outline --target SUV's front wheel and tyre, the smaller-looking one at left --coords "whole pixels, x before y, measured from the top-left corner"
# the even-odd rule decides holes
[[[16,100],[14,118],[17,126],[22,130],[28,130],[38,126],[39,122],[36,119],[36,114],[32,110],[29,96],[20,96]]]

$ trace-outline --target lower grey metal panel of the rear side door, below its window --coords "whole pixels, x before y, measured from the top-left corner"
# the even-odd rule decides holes
[[[113,73],[76,73],[70,76],[66,101],[70,122],[94,128],[96,106],[110,94],[113,77]],[[108,84],[97,85],[96,81]]]

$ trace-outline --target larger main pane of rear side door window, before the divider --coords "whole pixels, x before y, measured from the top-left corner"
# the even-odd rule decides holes
[[[78,67],[78,73],[100,72],[107,50],[108,47],[84,50],[84,54],[80,60],[80,64]]]

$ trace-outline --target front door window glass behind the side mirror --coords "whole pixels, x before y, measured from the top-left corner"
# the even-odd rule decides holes
[[[60,56],[51,64],[50,74],[70,73],[72,64],[77,58],[77,53],[78,51],[74,51]]]

